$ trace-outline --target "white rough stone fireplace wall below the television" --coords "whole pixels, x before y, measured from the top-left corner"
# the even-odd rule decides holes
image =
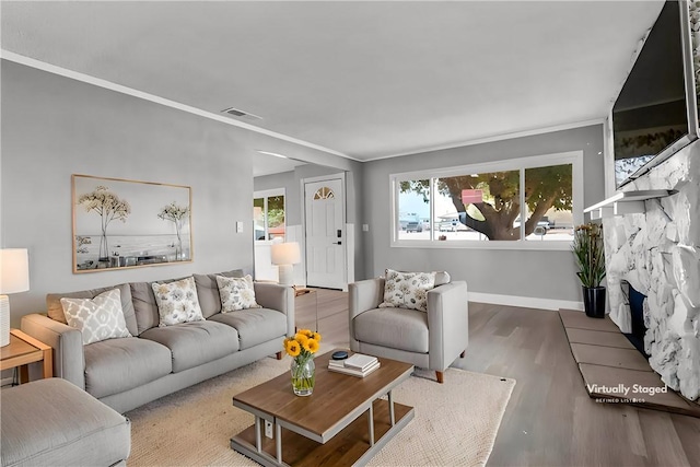
[[[668,387],[700,397],[700,141],[623,187],[675,189],[646,212],[603,220],[610,317],[631,331],[627,280],[646,295],[644,348]]]

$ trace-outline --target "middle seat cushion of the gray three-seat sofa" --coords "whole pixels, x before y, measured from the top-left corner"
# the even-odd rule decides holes
[[[212,322],[191,322],[152,328],[141,338],[171,350],[173,372],[209,363],[238,350],[238,332],[231,326]]]

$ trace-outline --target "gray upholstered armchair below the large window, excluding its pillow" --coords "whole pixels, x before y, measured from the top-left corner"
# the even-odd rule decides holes
[[[350,349],[354,352],[411,363],[443,372],[469,342],[467,283],[455,281],[428,292],[428,313],[418,310],[380,308],[384,278],[351,283]]]

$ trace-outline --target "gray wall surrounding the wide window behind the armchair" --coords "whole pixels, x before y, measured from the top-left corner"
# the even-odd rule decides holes
[[[562,301],[581,301],[581,288],[570,252],[392,248],[389,175],[435,167],[582,150],[584,153],[584,206],[604,198],[603,125],[532,137],[427,152],[365,163],[363,166],[362,223],[365,278],[386,268],[447,270],[466,280],[470,291]],[[600,154],[598,154],[600,153]]]

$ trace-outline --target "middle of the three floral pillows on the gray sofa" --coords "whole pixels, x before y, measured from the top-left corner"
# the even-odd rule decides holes
[[[194,277],[167,283],[153,282],[151,287],[161,317],[160,327],[205,319],[199,307]]]

